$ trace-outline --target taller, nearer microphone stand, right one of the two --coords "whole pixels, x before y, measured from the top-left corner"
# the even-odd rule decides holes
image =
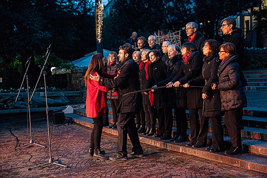
[[[51,44],[50,44],[50,46],[51,46]],[[46,58],[46,60],[45,60],[45,64],[47,63],[47,59],[48,59],[49,54],[50,54],[50,52],[51,52],[50,46],[47,48],[46,55],[47,55],[47,53],[48,53],[48,55],[47,55],[47,58]],[[45,55],[45,56],[46,56],[46,55]],[[43,56],[43,57],[45,57],[45,56]],[[45,81],[46,72],[44,71],[45,64],[44,64],[44,66],[42,67],[42,70],[41,70],[39,79],[38,79],[38,81],[37,81],[37,83],[36,83],[36,86],[35,86],[35,88],[34,88],[34,91],[35,91],[35,89],[36,89],[36,87],[37,87],[37,85],[38,85],[38,82],[39,82],[39,80],[40,80],[41,75],[43,75],[43,76],[44,76],[44,82],[45,82],[45,101],[46,101],[46,120],[47,120],[48,143],[49,143],[49,161],[48,161],[48,163],[44,163],[44,164],[40,164],[40,165],[38,165],[38,166],[34,166],[34,167],[31,167],[31,168],[28,168],[28,170],[31,170],[31,169],[34,169],[34,168],[38,168],[38,167],[41,167],[41,166],[44,166],[44,165],[47,165],[47,164],[55,164],[55,165],[62,166],[62,167],[65,167],[65,168],[68,167],[68,166],[66,166],[66,165],[62,165],[62,164],[59,164],[59,163],[55,163],[55,161],[59,161],[59,160],[58,160],[58,159],[53,160],[53,158],[52,158],[51,138],[50,138],[50,128],[49,128],[49,120],[48,120],[47,92],[46,92],[46,81]],[[33,97],[33,95],[34,95],[34,91],[33,91],[32,95],[31,95],[31,99],[32,99],[32,97]],[[31,101],[31,99],[30,99],[30,101]]]

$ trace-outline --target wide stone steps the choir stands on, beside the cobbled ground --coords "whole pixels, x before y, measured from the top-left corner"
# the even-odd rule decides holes
[[[267,98],[266,98],[267,100]],[[109,122],[112,123],[112,110],[110,103],[109,106]],[[205,150],[205,148],[194,149],[191,147],[185,147],[190,140],[190,123],[188,122],[187,128],[187,142],[174,143],[169,140],[160,141],[158,138],[152,136],[143,136],[139,134],[140,142],[154,145],[160,148],[166,148],[177,152],[193,155],[196,157],[204,158],[207,160],[217,161],[219,163],[225,163],[231,166],[237,166],[245,169],[251,169],[259,172],[267,173],[267,109],[250,107],[243,110],[243,124],[244,129],[241,130],[242,136],[242,155],[225,155],[224,152],[211,153]],[[85,109],[74,109],[74,113],[66,114],[67,119],[73,119],[74,122],[93,128],[93,120],[86,117]],[[188,111],[187,111],[188,118]],[[222,123],[224,123],[224,117],[222,117]],[[175,134],[176,127],[175,121],[173,122],[173,132]],[[223,125],[222,125],[223,126]],[[157,127],[157,125],[156,125]],[[109,129],[104,127],[104,132],[117,135],[117,129]],[[224,128],[224,141],[225,147],[230,147],[231,139],[229,137],[227,128]],[[207,145],[211,145],[211,128],[209,126]]]

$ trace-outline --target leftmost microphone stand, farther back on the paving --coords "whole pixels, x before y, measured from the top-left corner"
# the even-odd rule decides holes
[[[31,135],[31,139],[30,139],[30,142],[29,142],[28,144],[25,144],[25,145],[23,145],[23,146],[21,146],[21,147],[15,148],[15,150],[18,150],[18,149],[20,149],[20,148],[22,148],[22,147],[26,147],[26,146],[29,145],[29,144],[35,144],[35,145],[37,145],[37,146],[45,147],[45,148],[46,148],[45,145],[35,143],[35,142],[33,141],[33,139],[32,139],[32,132],[31,132],[31,112],[30,112],[30,101],[29,101],[29,100],[30,100],[30,97],[29,97],[29,81],[28,81],[28,75],[27,75],[28,68],[29,68],[29,66],[30,66],[30,62],[31,62],[31,57],[28,58],[28,61],[26,62],[26,64],[28,63],[28,66],[27,66],[26,72],[25,72],[25,74],[24,74],[24,77],[23,77],[23,80],[22,80],[22,83],[21,83],[21,86],[20,86],[20,90],[21,90],[21,88],[22,88],[24,79],[26,78],[26,81],[27,81],[27,93],[28,93],[28,109],[29,109],[29,123],[30,123],[30,135]],[[19,90],[19,92],[18,92],[18,96],[19,96],[19,94],[20,94],[20,90]],[[17,96],[15,102],[17,102],[17,100],[18,100],[18,96]]]

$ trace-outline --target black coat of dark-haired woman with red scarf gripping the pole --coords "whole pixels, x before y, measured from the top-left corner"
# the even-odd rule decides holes
[[[179,81],[181,86],[201,75],[201,69],[203,66],[203,60],[201,54],[196,51],[189,55],[188,63],[183,63],[178,74],[174,77],[171,82]],[[204,86],[200,84],[197,86]],[[201,88],[187,88],[187,107],[188,108],[202,108],[202,89]]]

